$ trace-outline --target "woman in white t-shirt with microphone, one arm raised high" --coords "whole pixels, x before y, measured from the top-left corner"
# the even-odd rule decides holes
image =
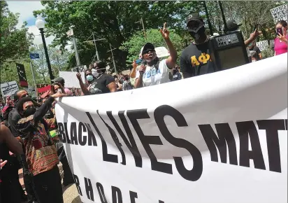
[[[177,60],[177,52],[169,38],[169,31],[166,28],[166,22],[160,32],[166,41],[170,56],[167,59],[160,59],[157,57],[154,45],[152,43],[145,43],[141,49],[143,63],[136,73],[135,87],[147,87],[152,85],[159,85],[161,83],[169,82],[169,70],[173,69]]]

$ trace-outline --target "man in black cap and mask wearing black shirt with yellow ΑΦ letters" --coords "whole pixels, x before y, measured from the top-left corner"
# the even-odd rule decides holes
[[[183,50],[180,57],[180,69],[184,78],[215,72],[208,48],[210,36],[205,33],[204,25],[203,19],[196,13],[187,17],[186,26],[194,42]]]

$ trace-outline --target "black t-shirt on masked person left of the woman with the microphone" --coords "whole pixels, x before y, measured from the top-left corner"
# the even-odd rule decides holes
[[[89,92],[90,94],[108,93],[110,90],[108,89],[107,85],[112,82],[114,82],[114,78],[106,73],[103,73],[96,80],[94,80],[91,85],[89,85]]]

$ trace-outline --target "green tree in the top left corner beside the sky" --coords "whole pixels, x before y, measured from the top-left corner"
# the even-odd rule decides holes
[[[33,35],[27,34],[26,22],[20,29],[16,28],[19,13],[11,13],[6,1],[0,1],[0,7],[0,64],[2,64],[7,59],[27,57]]]

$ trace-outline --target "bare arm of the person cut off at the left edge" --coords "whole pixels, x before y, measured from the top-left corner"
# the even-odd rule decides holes
[[[7,144],[9,151],[19,155],[23,154],[22,144],[13,137],[9,128],[5,125],[0,125],[0,127],[0,141]]]

